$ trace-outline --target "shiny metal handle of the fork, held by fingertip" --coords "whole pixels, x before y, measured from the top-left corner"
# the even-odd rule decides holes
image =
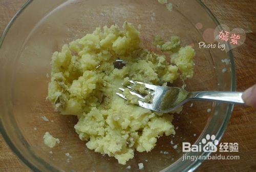
[[[225,91],[202,91],[193,92],[191,99],[211,100],[233,104],[245,104],[242,99],[243,92],[225,92]]]

